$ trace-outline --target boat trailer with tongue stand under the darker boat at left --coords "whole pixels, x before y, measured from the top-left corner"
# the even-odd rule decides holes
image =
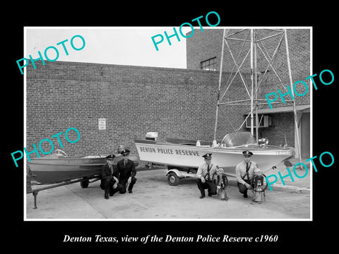
[[[27,176],[27,178],[30,178],[30,177],[31,176]],[[90,181],[90,179],[93,179],[93,180]],[[100,179],[101,179],[101,174],[95,174],[95,175],[92,175],[92,176],[84,176],[82,179],[64,181],[62,183],[56,183],[56,184],[52,184],[50,186],[45,186],[45,187],[42,187],[42,188],[32,189],[31,184],[30,184],[26,188],[26,194],[32,193],[32,195],[34,197],[34,207],[33,207],[33,209],[37,209],[37,193],[39,193],[39,191],[44,191],[44,190],[48,190],[50,188],[57,188],[57,187],[60,187],[60,186],[66,186],[66,185],[69,185],[69,184],[79,183],[79,182],[80,182],[81,188],[87,188],[90,183],[94,183],[95,181],[99,181]],[[27,181],[27,183],[28,183],[28,181]],[[38,183],[37,185],[43,185],[43,184]]]

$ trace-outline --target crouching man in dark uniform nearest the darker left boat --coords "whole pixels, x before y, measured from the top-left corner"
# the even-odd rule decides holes
[[[105,191],[105,199],[109,199],[108,195],[112,197],[114,193],[121,191],[121,186],[118,185],[118,172],[113,166],[114,157],[114,155],[108,155],[106,157],[107,164],[102,167],[101,171],[100,188]]]

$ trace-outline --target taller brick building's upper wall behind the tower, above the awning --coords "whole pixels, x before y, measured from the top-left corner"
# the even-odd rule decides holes
[[[230,34],[233,32],[237,32],[239,30],[231,30]],[[270,32],[268,30],[257,30],[258,37],[261,39],[268,37],[270,35],[275,34],[276,32]],[[222,34],[223,29],[205,29],[201,31],[200,29],[194,30],[194,36],[190,37],[186,41],[186,54],[187,54],[187,68],[192,69],[200,69],[201,61],[205,61],[207,59],[213,58],[216,56],[217,58],[217,72],[220,70],[220,59],[222,52]],[[248,35],[248,31],[240,32],[237,35],[232,37],[237,37],[238,39],[245,39]],[[258,38],[257,37],[257,38]],[[249,40],[250,37],[247,38]],[[280,42],[281,35],[277,37],[271,37],[266,40],[262,40],[262,43],[258,43],[259,46],[267,51],[270,57],[273,56],[273,53]],[[305,80],[306,77],[310,75],[310,30],[309,29],[287,29],[287,39],[288,46],[290,51],[290,64],[292,70],[292,80],[296,82],[297,80]],[[234,58],[237,58],[238,52],[242,47],[242,42],[235,40],[227,40],[230,45],[230,49]],[[263,47],[264,46],[264,47]],[[242,50],[242,54],[239,58],[238,64],[242,62],[244,56],[249,51],[250,43],[246,43],[244,49]],[[264,50],[265,49],[265,50]],[[244,73],[250,72],[250,55],[247,56],[244,61],[241,70]],[[266,61],[261,49],[257,47],[257,59],[258,59],[258,71],[265,71],[268,66],[268,61]],[[274,65],[276,70],[278,71],[281,80],[283,80],[283,85],[280,83],[279,79],[276,77],[273,71],[270,71],[266,78],[263,79],[263,85],[259,87],[258,90],[258,99],[266,99],[265,95],[270,92],[277,92],[280,89],[283,93],[285,91],[284,86],[290,85],[290,79],[288,76],[287,69],[287,58],[286,58],[286,49],[285,49],[285,38],[283,38],[282,44],[280,45],[280,49],[275,58]],[[224,61],[222,63],[223,71],[232,71],[234,67],[234,63],[232,61],[232,57],[227,50],[227,46],[225,45],[224,51]],[[248,76],[249,77],[249,76]],[[246,80],[246,83],[251,84],[250,79]],[[302,97],[296,96],[296,104],[309,104],[310,98],[310,82],[307,81],[308,92],[306,95]],[[243,88],[242,88],[243,89]],[[305,91],[305,87],[302,84],[297,85],[296,90],[299,94],[303,94]],[[285,96],[285,99],[290,99],[290,96]],[[286,104],[275,104],[274,107],[283,107],[290,106],[292,103]],[[265,102],[261,105],[261,108],[267,108],[268,103]]]

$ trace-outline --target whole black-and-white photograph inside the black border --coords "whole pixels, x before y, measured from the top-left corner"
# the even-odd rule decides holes
[[[27,28],[26,219],[311,219],[311,35]]]

